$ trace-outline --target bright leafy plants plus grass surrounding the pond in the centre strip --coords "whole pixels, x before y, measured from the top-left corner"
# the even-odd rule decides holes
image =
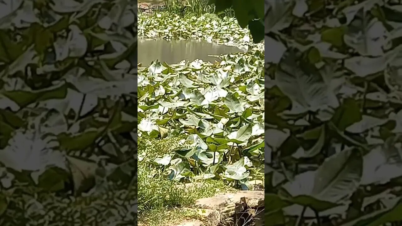
[[[205,39],[250,51],[220,56],[222,62],[156,60],[138,68],[138,200],[146,225],[197,217],[183,214],[195,199],[254,189],[252,181],[264,179],[264,44],[253,43],[236,18],[169,8],[139,14],[139,37]]]

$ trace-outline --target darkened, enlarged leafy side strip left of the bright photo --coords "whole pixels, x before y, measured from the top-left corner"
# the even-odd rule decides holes
[[[0,225],[137,221],[137,6],[0,2]]]

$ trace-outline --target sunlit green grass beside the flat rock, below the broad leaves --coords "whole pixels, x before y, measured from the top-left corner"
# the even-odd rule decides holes
[[[224,181],[205,180],[186,186],[180,181],[171,181],[168,171],[153,164],[156,156],[171,150],[179,139],[152,140],[139,146],[138,163],[138,213],[139,225],[161,226],[173,224],[198,215],[192,208],[195,201],[221,192],[235,191]],[[169,150],[170,148],[170,150]]]

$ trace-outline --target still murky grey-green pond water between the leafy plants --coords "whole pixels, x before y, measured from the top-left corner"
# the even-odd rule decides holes
[[[154,60],[176,64],[182,60],[214,62],[219,60],[208,55],[220,55],[244,51],[237,47],[209,43],[205,40],[138,39],[138,62],[148,66]]]

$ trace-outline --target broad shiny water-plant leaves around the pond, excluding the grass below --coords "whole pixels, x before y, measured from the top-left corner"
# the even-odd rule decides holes
[[[168,65],[156,60],[139,67],[138,130],[140,144],[147,147],[144,155],[153,156],[171,180],[215,178],[252,189],[248,181],[263,176],[263,44],[244,39],[247,33],[234,18],[206,14],[181,18],[180,23],[174,18],[140,15],[139,35],[213,36],[221,43],[237,40],[236,45],[246,45],[249,51],[219,56],[221,63],[195,60]],[[179,146],[168,142],[166,147],[162,140],[157,148],[148,148],[149,138],[166,137],[183,138],[175,141]]]

